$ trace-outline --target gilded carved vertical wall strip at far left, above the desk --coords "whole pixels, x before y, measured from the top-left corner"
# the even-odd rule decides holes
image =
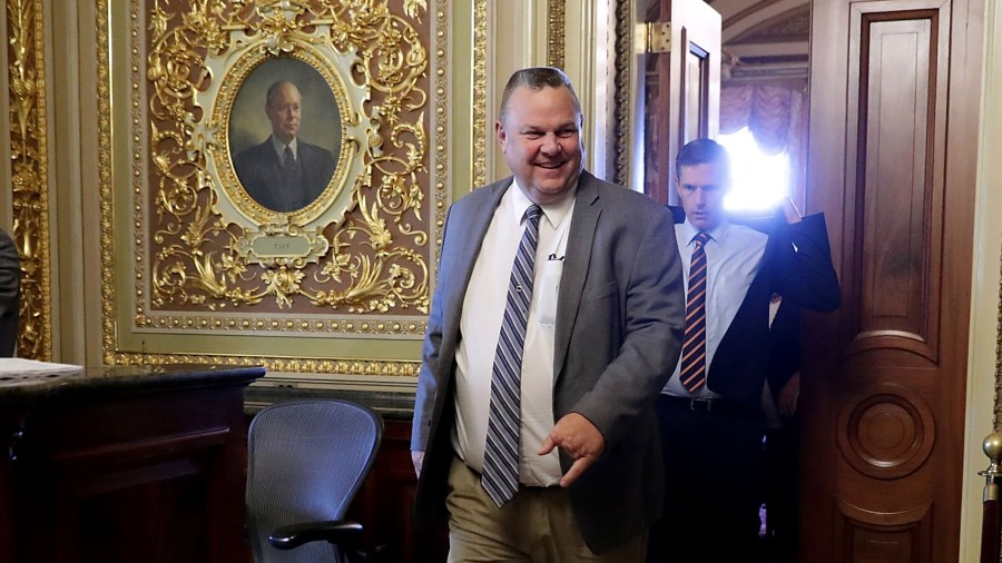
[[[50,359],[51,285],[41,0],[8,0],[12,238],[21,258],[20,357]]]

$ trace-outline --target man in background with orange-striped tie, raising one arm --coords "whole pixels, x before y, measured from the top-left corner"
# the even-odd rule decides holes
[[[676,238],[686,279],[681,358],[657,399],[666,465],[665,517],[648,561],[755,561],[762,504],[762,394],[773,294],[815,310],[838,307],[824,217],[793,203],[767,233],[724,213],[730,166],[710,139],[676,161]]]

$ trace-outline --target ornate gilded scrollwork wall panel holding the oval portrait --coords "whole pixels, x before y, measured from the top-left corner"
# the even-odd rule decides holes
[[[428,4],[99,10],[107,363],[224,356],[277,372],[416,374],[462,115],[453,11]],[[283,81],[295,85],[303,181],[262,184],[267,152],[254,149],[281,121],[266,100]],[[305,144],[327,156],[318,174]],[[306,194],[283,203],[277,186]]]

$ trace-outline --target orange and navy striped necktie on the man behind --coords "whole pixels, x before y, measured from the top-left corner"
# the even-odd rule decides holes
[[[706,241],[709,234],[694,238],[696,248],[689,263],[689,290],[686,295],[686,334],[679,378],[682,387],[696,393],[706,385]]]

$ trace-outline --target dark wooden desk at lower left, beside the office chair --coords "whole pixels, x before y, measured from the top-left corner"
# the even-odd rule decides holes
[[[0,561],[245,562],[244,388],[262,367],[0,384]]]

